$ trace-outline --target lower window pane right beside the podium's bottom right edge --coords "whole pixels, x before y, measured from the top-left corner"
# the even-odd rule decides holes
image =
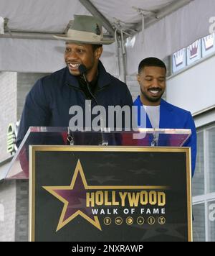
[[[205,210],[204,204],[196,204],[193,206],[193,229],[194,242],[204,242],[205,237]]]

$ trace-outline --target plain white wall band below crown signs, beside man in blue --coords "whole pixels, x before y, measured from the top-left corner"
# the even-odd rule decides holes
[[[192,114],[215,104],[215,55],[167,81],[168,102]]]

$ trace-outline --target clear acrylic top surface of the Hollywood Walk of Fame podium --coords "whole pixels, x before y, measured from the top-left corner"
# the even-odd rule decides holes
[[[70,134],[70,135],[69,135]],[[29,127],[13,157],[6,179],[29,178],[29,146],[134,146],[182,147],[191,137],[191,129],[138,129],[137,132],[70,132],[68,127]]]

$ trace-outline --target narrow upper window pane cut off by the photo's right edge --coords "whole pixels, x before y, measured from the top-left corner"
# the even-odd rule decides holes
[[[215,192],[215,127],[206,131],[207,145],[207,193]]]

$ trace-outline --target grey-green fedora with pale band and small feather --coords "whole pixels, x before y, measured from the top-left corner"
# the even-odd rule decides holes
[[[74,15],[74,21],[66,37],[54,35],[58,40],[90,45],[110,45],[115,40],[103,40],[102,23],[99,19],[87,15]]]

